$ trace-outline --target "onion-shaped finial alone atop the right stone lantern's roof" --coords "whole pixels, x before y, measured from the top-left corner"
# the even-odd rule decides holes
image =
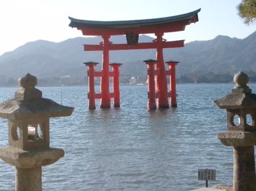
[[[249,93],[251,94],[251,89],[246,85],[249,82],[249,77],[247,74],[240,71],[234,75],[234,83],[236,86],[232,89],[232,93]]]

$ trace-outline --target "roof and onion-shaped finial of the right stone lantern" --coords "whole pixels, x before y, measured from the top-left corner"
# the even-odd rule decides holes
[[[234,82],[236,86],[231,94],[214,100],[213,104],[221,109],[256,108],[256,95],[251,94],[251,89],[246,85],[249,77],[240,71],[234,76]]]

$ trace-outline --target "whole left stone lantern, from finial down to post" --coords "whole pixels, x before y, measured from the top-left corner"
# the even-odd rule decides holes
[[[36,77],[24,75],[15,98],[0,104],[0,117],[9,122],[9,147],[0,148],[0,158],[16,167],[16,191],[42,190],[42,166],[64,156],[64,150],[49,147],[49,118],[74,110],[43,98],[36,84]]]

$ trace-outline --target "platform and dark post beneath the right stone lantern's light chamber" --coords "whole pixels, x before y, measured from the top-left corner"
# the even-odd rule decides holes
[[[255,190],[256,132],[228,131],[218,133],[217,137],[223,145],[234,147],[233,190]]]

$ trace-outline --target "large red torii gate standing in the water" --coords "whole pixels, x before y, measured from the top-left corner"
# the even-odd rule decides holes
[[[126,21],[94,21],[94,20],[80,20],[69,17],[71,23],[69,27],[76,27],[77,29],[82,31],[83,35],[89,36],[101,36],[102,42],[99,45],[84,45],[85,51],[96,51],[102,50],[102,67],[101,72],[92,72],[93,66],[97,63],[95,62],[85,62],[88,69],[88,77],[92,80],[92,75],[96,73],[101,77],[101,85],[100,91],[101,94],[94,94],[94,87],[91,87],[92,84],[89,84],[89,109],[95,109],[94,99],[101,99],[100,108],[110,108],[110,98],[114,97],[116,101],[119,102],[119,86],[116,85],[116,80],[113,80],[113,84],[118,87],[114,87],[118,89],[118,92],[110,93],[109,92],[109,77],[115,77],[117,74],[116,69],[115,72],[109,72],[109,50],[131,50],[131,49],[156,49],[156,70],[154,75],[156,75],[156,94],[157,96],[153,96],[158,99],[157,107],[158,108],[169,108],[168,97],[171,97],[171,107],[177,107],[176,103],[176,89],[175,89],[175,65],[177,62],[170,61],[167,62],[170,65],[170,73],[171,75],[171,90],[168,92],[167,90],[167,79],[166,79],[166,70],[164,67],[164,59],[163,59],[163,48],[177,48],[184,46],[184,40],[179,41],[166,41],[163,39],[163,35],[165,32],[177,32],[184,31],[185,26],[191,23],[196,23],[199,21],[198,12],[201,9],[189,12],[187,14],[169,16],[166,18],[158,18],[158,19],[143,19],[143,20],[126,20]],[[148,34],[154,33],[156,39],[152,41],[152,43],[138,43],[140,34]],[[127,44],[113,44],[109,41],[110,36],[112,35],[126,35]],[[152,61],[152,60],[151,60]],[[150,65],[151,61],[145,61],[146,64]],[[119,64],[118,66],[120,66]],[[117,66],[117,68],[118,68]],[[113,67],[113,66],[112,66]],[[154,65],[153,65],[154,67]],[[113,67],[114,69],[114,67]],[[117,69],[118,70],[118,69]],[[150,70],[152,70],[152,66],[150,66]],[[154,71],[154,69],[152,70]],[[90,73],[90,74],[89,74]],[[149,69],[148,69],[149,73]],[[94,77],[93,76],[93,77]],[[149,77],[148,77],[149,78]],[[92,81],[91,81],[92,82]],[[94,83],[94,82],[93,82]],[[94,84],[93,84],[94,86]],[[152,87],[152,85],[151,85]],[[90,90],[91,88],[91,90]],[[150,88],[148,86],[148,88]],[[93,89],[93,92],[92,92]],[[155,89],[155,88],[154,88]],[[148,89],[148,109],[155,109],[156,107],[151,107],[149,104],[150,100],[152,101],[152,97],[150,99],[150,95],[152,95],[153,90]],[[91,93],[91,94],[90,94]],[[154,92],[155,93],[155,92]],[[154,105],[154,104],[153,104]],[[114,103],[114,107],[119,107],[119,103]]]

